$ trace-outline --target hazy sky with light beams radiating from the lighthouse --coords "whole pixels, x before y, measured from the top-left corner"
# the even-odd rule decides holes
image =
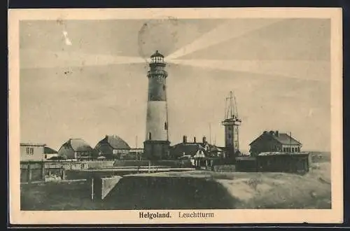
[[[20,22],[20,137],[94,147],[146,138],[148,57],[167,62],[169,139],[224,145],[234,92],[248,151],[265,130],[330,150],[330,20],[25,20]],[[211,127],[211,132],[209,127]]]

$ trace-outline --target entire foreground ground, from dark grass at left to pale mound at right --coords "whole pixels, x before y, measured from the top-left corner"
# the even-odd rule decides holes
[[[88,182],[21,185],[22,210],[330,209],[330,163],[305,175],[268,172],[161,172],[120,180],[102,202]]]

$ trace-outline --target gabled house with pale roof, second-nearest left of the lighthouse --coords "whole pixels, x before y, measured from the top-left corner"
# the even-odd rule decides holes
[[[69,139],[59,148],[59,157],[65,159],[90,159],[93,149],[86,141],[80,138]]]

